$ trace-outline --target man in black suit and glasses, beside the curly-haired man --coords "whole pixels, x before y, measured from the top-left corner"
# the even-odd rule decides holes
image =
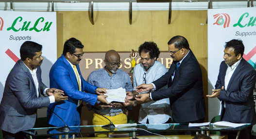
[[[175,123],[202,123],[205,119],[205,98],[199,63],[189,49],[187,39],[182,36],[171,38],[168,48],[173,59],[169,71],[150,84],[138,85],[138,93],[156,91],[137,95],[136,99],[144,103],[169,97]],[[157,91],[166,84],[167,89]]]

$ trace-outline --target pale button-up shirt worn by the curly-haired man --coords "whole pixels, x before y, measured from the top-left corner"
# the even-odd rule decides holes
[[[136,86],[144,83],[144,78],[146,83],[154,82],[159,79],[162,75],[167,72],[167,69],[163,64],[158,61],[154,62],[154,65],[146,71],[143,68],[143,65],[140,63],[134,67],[133,72],[133,90],[136,90]],[[145,74],[146,73],[146,74]],[[145,75],[144,75],[145,74]],[[167,85],[161,89],[166,89]],[[160,90],[160,89],[159,89]],[[149,91],[142,92],[139,94],[148,93]],[[154,91],[153,91],[154,92]],[[166,123],[171,117],[171,107],[169,98],[163,98],[158,101],[150,101],[144,104],[141,104],[139,110],[138,123],[146,124],[147,120],[149,124],[162,124]]]

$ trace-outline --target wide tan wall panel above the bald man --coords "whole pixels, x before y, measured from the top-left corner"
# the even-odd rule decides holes
[[[133,12],[135,19],[132,25],[127,11],[96,11],[94,14],[96,19],[92,25],[87,11],[57,12],[57,20],[63,18],[63,25],[57,28],[57,31],[63,29],[63,34],[57,36],[58,50],[61,50],[58,56],[63,50],[63,43],[70,37],[80,40],[85,45],[84,51],[130,51],[152,40],[150,11]]]

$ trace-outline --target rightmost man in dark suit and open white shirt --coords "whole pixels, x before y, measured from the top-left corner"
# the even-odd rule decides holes
[[[224,61],[220,66],[218,80],[211,95],[222,101],[221,121],[256,124],[253,92],[256,71],[242,58],[244,45],[240,40],[226,42]],[[252,139],[252,126],[240,132],[239,139]],[[228,139],[236,139],[236,134],[227,133]],[[232,136],[233,135],[233,136]],[[235,135],[235,136],[234,136]]]

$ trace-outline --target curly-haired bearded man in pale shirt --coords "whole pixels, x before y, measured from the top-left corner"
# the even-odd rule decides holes
[[[134,67],[133,72],[133,94],[136,95],[136,86],[143,83],[152,83],[163,76],[167,69],[163,64],[157,61],[160,54],[159,48],[154,42],[144,42],[138,48],[140,56],[140,64]],[[167,88],[167,85],[162,89]],[[145,91],[140,94],[149,93]],[[154,92],[154,91],[152,91]],[[138,102],[139,103],[139,102]],[[137,100],[132,101],[132,105],[136,106]],[[169,98],[150,101],[141,104],[139,111],[138,123],[140,124],[163,124],[171,123],[171,108]],[[141,132],[146,135],[146,132]]]

